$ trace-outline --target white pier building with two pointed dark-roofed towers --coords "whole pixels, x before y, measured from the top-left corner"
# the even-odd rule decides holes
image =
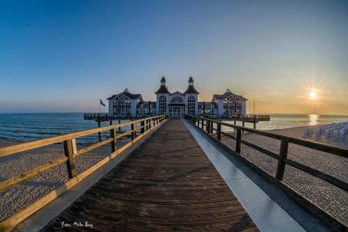
[[[156,102],[144,101],[141,94],[129,93],[126,88],[122,93],[112,95],[109,100],[109,114],[113,116],[148,116],[168,114],[168,116],[208,115],[208,116],[246,116],[246,101],[242,95],[229,89],[223,94],[214,94],[210,102],[199,102],[198,91],[189,78],[189,86],[184,93],[170,92],[166,78],[161,78],[156,94]]]

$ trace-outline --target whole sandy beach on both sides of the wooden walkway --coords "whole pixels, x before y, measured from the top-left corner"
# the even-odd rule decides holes
[[[272,130],[270,132],[290,137],[304,138],[303,127]],[[253,141],[254,144],[267,148],[274,153],[278,153],[280,143],[275,139],[248,133],[244,133],[242,138],[246,141]],[[306,139],[310,138],[307,137]],[[231,148],[235,146],[235,141],[228,137],[223,137],[222,141]],[[10,146],[16,143],[17,142],[8,139],[0,139],[0,146]],[[347,146],[347,139],[342,142],[342,144],[335,145]],[[82,146],[79,146],[79,148],[81,147]],[[106,155],[109,155],[110,151],[110,146],[103,146],[102,148],[93,150],[91,153],[81,155],[76,161],[77,172],[81,173],[88,169],[88,167],[102,160]],[[3,181],[17,176],[33,167],[45,164],[63,155],[63,145],[53,144],[52,146],[30,150],[17,155],[0,157],[0,180]],[[242,155],[265,171],[275,175],[277,162],[273,158],[244,145],[242,145]],[[348,182],[348,162],[342,157],[293,144],[290,145],[288,157]],[[39,199],[41,196],[47,194],[47,192],[53,190],[67,180],[68,173],[65,164],[61,164],[46,173],[42,173],[40,176],[1,192],[0,219],[3,220],[13,215],[13,213],[33,203],[33,201]],[[294,190],[303,194],[327,212],[330,212],[334,217],[348,224],[348,194],[346,192],[288,166],[285,170],[284,181],[287,185],[294,188]]]

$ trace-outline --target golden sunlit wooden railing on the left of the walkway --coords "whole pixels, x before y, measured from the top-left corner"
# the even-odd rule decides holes
[[[113,157],[116,157],[119,153],[121,153],[123,150],[127,149],[129,146],[134,144],[134,142],[138,141],[143,137],[145,134],[148,134],[152,129],[155,127],[161,125],[164,121],[166,121],[166,118],[168,116],[166,115],[161,115],[161,116],[153,116],[149,118],[141,118],[136,121],[130,121],[127,123],[121,123],[121,124],[116,124],[116,125],[109,125],[106,127],[100,127],[96,129],[91,129],[91,130],[84,130],[81,132],[74,132],[72,134],[63,134],[57,137],[50,137],[47,139],[39,139],[35,141],[30,141],[22,144],[17,144],[14,146],[7,146],[0,148],[0,157],[1,156],[6,156],[6,155],[13,155],[16,153],[20,153],[26,150],[31,150],[34,148],[42,148],[43,146],[48,146],[51,144],[56,144],[56,143],[62,143],[63,142],[63,147],[64,147],[64,153],[65,157],[58,158],[57,160],[54,160],[52,162],[49,162],[48,164],[44,164],[40,167],[35,167],[34,169],[31,169],[30,171],[26,171],[25,173],[22,173],[19,176],[15,176],[13,178],[10,178],[8,180],[5,180],[0,183],[0,192],[3,190],[7,190],[8,188],[18,185],[19,183],[24,182],[25,180],[28,180],[29,178],[33,178],[35,176],[38,176],[40,173],[43,173],[45,171],[49,171],[50,169],[57,167],[59,164],[63,164],[65,162],[67,170],[68,170],[68,176],[70,180],[77,180],[74,183],[76,184],[79,182],[81,179],[85,178],[88,176],[90,173],[95,171],[97,168],[101,167],[103,164],[106,162],[109,162]],[[140,123],[140,127],[136,127],[137,124]],[[126,127],[129,125],[131,126],[131,130],[127,130],[125,132],[122,132],[121,134],[117,134],[116,129],[119,127]],[[103,131],[110,131],[110,138],[105,139],[104,141],[100,141],[97,144],[94,144],[92,146],[88,146],[86,148],[82,148],[81,150],[77,150],[76,146],[76,139],[78,137],[83,137],[89,134],[95,134],[98,132],[103,132]],[[127,134],[132,135],[132,140],[129,141],[129,143],[123,145],[121,148],[117,148],[116,146],[116,141],[118,139],[121,139],[122,137],[125,137]],[[106,157],[104,160],[98,162],[95,164],[95,166],[90,167],[90,169],[84,171],[84,173],[81,173],[80,176],[77,176],[77,171],[75,169],[75,158],[78,157],[79,155],[83,155],[85,153],[90,152],[91,150],[94,150],[95,148],[99,148],[101,146],[104,146],[105,144],[111,143],[111,155]],[[82,176],[81,176],[82,175]],[[69,185],[70,187],[72,185]],[[59,194],[65,192],[68,189],[68,187],[63,187],[61,190],[56,191],[56,193],[52,194],[55,197],[58,196]],[[58,192],[58,193],[57,193]],[[47,194],[49,195],[49,194]],[[53,199],[49,199],[49,201],[52,201]],[[48,200],[43,200],[43,204],[49,203]],[[29,209],[26,208],[24,211],[24,215],[27,215],[27,212],[35,212],[38,210],[38,208],[42,207],[42,203],[38,203],[37,206],[34,208]],[[24,219],[23,213],[21,214],[19,212],[16,215],[13,215],[12,218],[6,219],[7,222],[1,222],[0,223],[0,231],[6,231],[7,230],[7,225],[9,224],[16,224],[17,222],[20,222],[20,220]]]

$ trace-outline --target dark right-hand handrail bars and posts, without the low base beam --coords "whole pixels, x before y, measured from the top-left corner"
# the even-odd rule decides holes
[[[339,180],[338,178],[330,176],[326,173],[323,173],[322,171],[318,171],[318,170],[315,170],[313,168],[306,167],[303,164],[300,164],[298,162],[294,162],[293,160],[289,160],[287,158],[287,150],[288,150],[288,146],[290,143],[297,144],[299,146],[304,146],[307,148],[312,148],[314,150],[324,151],[326,153],[338,155],[340,157],[345,157],[345,158],[348,157],[348,150],[347,149],[340,148],[337,146],[330,146],[330,145],[318,143],[315,141],[309,141],[307,139],[296,139],[296,138],[287,137],[287,136],[280,135],[280,134],[274,134],[271,132],[264,132],[261,130],[255,130],[255,129],[251,129],[248,127],[242,127],[239,125],[232,125],[229,123],[223,123],[221,121],[215,121],[215,120],[212,120],[209,118],[202,118],[202,117],[192,116],[192,115],[186,115],[185,118],[187,118],[191,123],[193,123],[193,125],[195,125],[198,128],[200,128],[199,126],[201,125],[202,130],[203,130],[203,125],[205,125],[205,130],[203,130],[203,131],[206,132],[207,134],[211,134],[212,127],[213,127],[214,123],[216,123],[217,128],[218,128],[215,130],[217,130],[218,133],[221,133],[221,134],[226,134],[224,132],[221,132],[221,125],[233,128],[235,130],[235,137],[232,137],[232,135],[230,135],[230,134],[228,134],[228,137],[232,137],[236,141],[235,152],[240,154],[241,144],[244,144],[246,146],[249,146],[255,150],[258,150],[258,151],[264,153],[265,155],[269,155],[270,157],[273,157],[274,159],[278,160],[278,167],[276,170],[275,178],[280,180],[280,181],[283,180],[285,165],[290,165],[296,169],[300,169],[301,171],[309,173],[310,175],[316,176],[317,178],[320,178],[320,179],[326,181],[327,183],[331,183],[332,185],[335,185],[336,187],[339,187],[340,189],[348,192],[348,185],[344,181]],[[259,134],[259,135],[262,135],[264,137],[269,137],[272,139],[280,140],[279,155],[271,152],[270,150],[267,150],[267,149],[261,148],[260,146],[255,145],[255,144],[252,144],[251,142],[242,140],[242,131],[250,132],[253,134]],[[214,139],[216,139],[216,138],[214,138]],[[217,140],[221,141],[221,135],[219,136],[219,134],[218,134]]]

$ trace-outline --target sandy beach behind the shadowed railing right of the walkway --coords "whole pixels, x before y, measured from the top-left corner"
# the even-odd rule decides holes
[[[314,135],[313,137],[304,137],[303,129],[304,127],[294,127],[289,129],[270,130],[268,132],[282,134],[288,137],[296,137],[299,139],[310,139],[313,141],[320,140],[323,143],[341,146],[343,148],[348,147],[347,137],[345,141],[333,141],[331,139],[324,139],[324,137],[321,139],[315,139]],[[276,139],[270,139],[249,133],[243,133],[242,139],[253,142],[253,144],[271,150],[274,153],[279,153],[280,141]],[[222,137],[221,140],[223,141],[223,144],[226,144],[230,148],[235,148],[235,140],[228,137]],[[273,176],[276,175],[277,162],[274,158],[264,155],[244,144],[242,144],[241,153],[243,157],[246,157],[247,160],[257,164],[258,167],[264,169],[264,171],[267,171]],[[308,167],[323,171],[335,178],[348,182],[348,162],[347,159],[343,157],[295,144],[290,144],[287,157],[296,162],[300,162],[301,164],[305,164]],[[347,192],[324,182],[324,180],[315,178],[308,173],[289,167],[289,165],[287,165],[285,169],[284,181],[294,190],[313,201],[317,206],[326,210],[326,212],[331,213],[333,217],[348,224]]]

